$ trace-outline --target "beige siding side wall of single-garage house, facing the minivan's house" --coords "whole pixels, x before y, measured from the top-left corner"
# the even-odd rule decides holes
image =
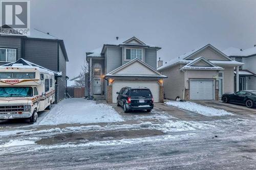
[[[164,79],[164,94],[167,99],[175,99],[177,96],[183,98],[182,90],[185,86],[185,74],[179,70],[184,64],[177,64],[162,71],[162,75],[167,76]]]

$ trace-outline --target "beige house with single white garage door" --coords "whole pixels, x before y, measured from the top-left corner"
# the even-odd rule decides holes
[[[168,78],[164,81],[167,99],[219,100],[223,93],[233,92],[233,61],[211,44],[186,53],[160,66],[157,70]]]

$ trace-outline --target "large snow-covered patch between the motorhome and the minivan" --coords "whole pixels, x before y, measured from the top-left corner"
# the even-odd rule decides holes
[[[55,105],[37,125],[121,122],[113,107],[85,99],[65,99]]]

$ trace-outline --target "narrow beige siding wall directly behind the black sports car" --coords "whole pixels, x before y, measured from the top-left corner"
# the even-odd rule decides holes
[[[220,65],[221,66],[221,65]],[[224,78],[223,78],[223,86],[224,93],[232,93],[234,92],[234,67],[221,66],[224,68]]]

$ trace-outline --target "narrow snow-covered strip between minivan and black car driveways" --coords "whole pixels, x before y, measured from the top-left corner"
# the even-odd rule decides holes
[[[225,110],[215,109],[212,107],[207,107],[203,105],[199,105],[193,102],[176,102],[176,101],[168,101],[165,102],[166,105],[175,106],[181,109],[193,111],[205,116],[226,116],[226,115],[233,115]]]

